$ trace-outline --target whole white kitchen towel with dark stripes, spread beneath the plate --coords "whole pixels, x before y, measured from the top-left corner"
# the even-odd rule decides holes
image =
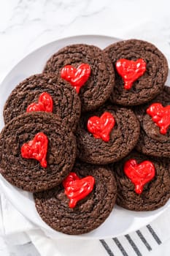
[[[10,251],[9,255],[23,255],[24,249],[24,256],[168,256],[169,219],[170,208],[149,225],[125,236],[101,240],[51,239],[25,219],[4,195],[1,195],[1,238],[4,238],[5,244],[10,248],[13,246],[14,249],[14,246],[18,246],[17,248],[20,249],[16,254]],[[2,252],[1,247],[0,252]],[[0,253],[0,255],[4,254]]]

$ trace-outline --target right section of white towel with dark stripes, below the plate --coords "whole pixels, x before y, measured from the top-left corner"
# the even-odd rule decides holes
[[[169,219],[170,210],[167,210],[140,230],[101,240],[50,239],[40,230],[30,231],[28,235],[42,256],[169,256]]]

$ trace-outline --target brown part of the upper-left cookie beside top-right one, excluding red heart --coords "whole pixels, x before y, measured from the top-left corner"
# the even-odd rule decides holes
[[[82,111],[95,110],[107,101],[115,84],[112,62],[100,48],[83,44],[66,46],[47,61],[44,72],[55,72],[61,77],[63,67],[77,68],[80,64],[90,65],[90,77],[79,92]]]

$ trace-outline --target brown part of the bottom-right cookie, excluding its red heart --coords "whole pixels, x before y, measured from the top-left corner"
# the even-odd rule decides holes
[[[144,165],[144,161],[150,161],[155,167],[155,176],[144,184],[141,194],[135,192],[134,183],[123,170],[125,162],[130,159],[135,159],[137,165]],[[120,162],[116,162],[112,166],[112,170],[117,181],[117,205],[132,211],[152,211],[163,206],[170,197],[169,168],[170,161],[147,157],[136,151],[132,151]],[[138,177],[139,173],[134,173],[134,177]]]

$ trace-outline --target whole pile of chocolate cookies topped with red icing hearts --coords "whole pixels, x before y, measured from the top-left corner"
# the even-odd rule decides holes
[[[53,229],[88,233],[117,205],[151,211],[170,197],[168,64],[136,39],[69,45],[4,105],[0,172],[34,192]]]

